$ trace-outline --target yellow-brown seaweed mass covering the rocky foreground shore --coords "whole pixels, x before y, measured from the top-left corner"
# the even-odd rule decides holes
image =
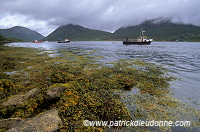
[[[0,119],[8,124],[11,117],[25,119],[8,131],[112,131],[84,126],[83,121],[198,118],[199,111],[185,105],[181,109],[181,103],[167,97],[173,78],[154,64],[126,59],[104,65],[96,63],[96,56],[80,55],[78,49],[63,50],[59,57],[28,48],[5,51],[0,52],[5,56],[0,64]],[[12,58],[15,63],[10,62]],[[19,93],[27,89],[32,90]],[[40,114],[52,108],[59,111],[62,122],[56,110]],[[118,131],[124,130],[121,128]],[[148,131],[148,127],[143,128],[131,130]]]

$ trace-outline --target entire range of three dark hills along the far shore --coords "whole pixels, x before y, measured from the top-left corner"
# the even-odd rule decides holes
[[[152,19],[146,20],[135,26],[121,27],[114,33],[89,29],[80,25],[68,24],[58,27],[44,38],[43,35],[31,29],[15,26],[9,29],[0,29],[0,35],[6,38],[16,38],[23,41],[69,39],[70,41],[123,41],[126,36],[136,39],[140,35],[141,28],[145,35],[154,41],[198,41],[200,42],[200,27],[172,23],[171,20]]]

